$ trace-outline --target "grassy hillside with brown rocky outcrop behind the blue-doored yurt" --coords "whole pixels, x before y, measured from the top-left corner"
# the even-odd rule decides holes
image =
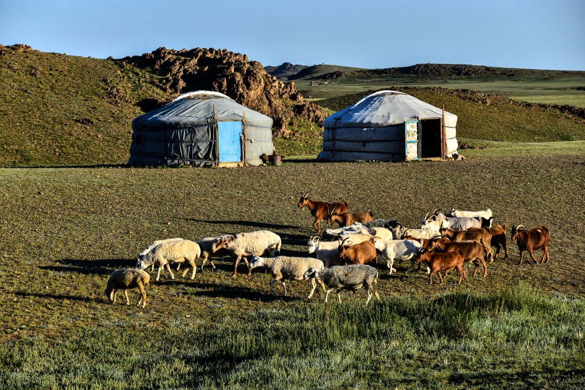
[[[0,45],[0,165],[125,164],[132,120],[197,89],[271,116],[277,137],[326,116],[293,83],[227,50],[161,48],[99,60]]]

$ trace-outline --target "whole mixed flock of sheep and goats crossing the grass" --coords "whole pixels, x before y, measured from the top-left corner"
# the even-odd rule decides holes
[[[506,244],[506,224],[492,225],[490,209],[470,212],[457,210],[453,206],[445,213],[439,209],[429,212],[422,219],[419,229],[407,229],[397,220],[372,218],[371,212],[347,212],[347,202],[314,201],[308,197],[309,191],[302,192],[298,207],[302,210],[307,207],[315,218],[313,226],[320,232],[319,223],[327,220],[328,225],[333,222],[339,224],[338,229],[325,229],[321,237],[310,237],[308,253],[315,253],[312,257],[277,256],[280,252],[281,239],[278,234],[268,230],[259,230],[249,233],[228,234],[220,237],[205,237],[195,242],[180,238],[154,241],[145,250],[138,254],[136,268],[125,268],[113,271],[108,279],[104,294],[112,302],[116,302],[116,292],[122,289],[126,297],[126,305],[130,304],[128,289],[138,288],[141,293],[138,306],[146,306],[144,286],[149,284],[150,275],[144,271],[152,266],[154,271],[158,267],[156,280],[160,272],[166,267],[171,278],[174,279],[170,264],[177,263],[177,270],[184,265],[183,277],[191,268],[191,279],[195,277],[197,265],[195,261],[202,258],[201,270],[209,260],[212,267],[215,264],[212,258],[232,257],[233,277],[236,276],[240,260],[244,260],[248,274],[252,269],[263,267],[270,272],[273,279],[270,281],[270,294],[273,294],[273,283],[280,281],[284,295],[287,295],[285,280],[309,279],[312,289],[308,295],[311,298],[318,283],[325,293],[325,302],[328,295],[335,290],[339,302],[342,289],[356,291],[364,288],[367,291],[367,301],[375,295],[380,297],[374,286],[379,276],[378,254],[386,259],[390,274],[396,272],[393,268],[395,260],[409,260],[411,272],[418,263],[426,267],[429,275],[429,284],[432,284],[436,273],[443,283],[443,277],[450,270],[459,272],[459,281],[467,280],[463,269],[464,263],[475,265],[473,276],[479,267],[483,268],[484,278],[487,276],[486,258],[490,262],[498,257],[500,247],[504,248],[505,258],[508,257]],[[516,241],[520,251],[520,263],[524,251],[528,251],[532,260],[534,250],[542,249],[541,263],[549,261],[548,244],[550,232],[548,227],[539,226],[526,229],[522,225],[512,227],[512,241]],[[495,247],[496,251],[491,249]],[[251,257],[248,262],[247,258]],[[330,265],[335,264],[330,267]],[[373,264],[373,266],[369,265]],[[417,268],[417,269],[418,269]],[[444,272],[441,275],[441,272]],[[328,289],[325,288],[325,284]]]

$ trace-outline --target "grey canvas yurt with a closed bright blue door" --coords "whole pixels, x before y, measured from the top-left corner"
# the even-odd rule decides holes
[[[272,119],[212,91],[188,92],[132,121],[128,165],[261,165]]]

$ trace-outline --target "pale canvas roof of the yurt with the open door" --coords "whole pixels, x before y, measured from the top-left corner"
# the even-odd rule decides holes
[[[333,127],[384,127],[408,120],[441,118],[443,111],[414,96],[398,91],[378,91],[325,119]],[[457,115],[445,111],[445,125],[455,127]]]

